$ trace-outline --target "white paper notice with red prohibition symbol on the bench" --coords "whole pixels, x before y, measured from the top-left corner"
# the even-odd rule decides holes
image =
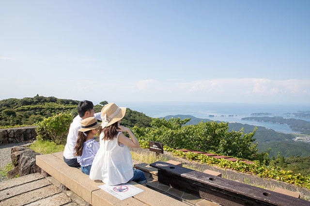
[[[141,191],[140,188],[137,188],[131,184],[119,184],[119,185],[100,185],[98,186],[101,190],[104,190],[111,195],[117,197],[120,200],[124,200],[128,197],[132,197],[136,194],[139,194]]]

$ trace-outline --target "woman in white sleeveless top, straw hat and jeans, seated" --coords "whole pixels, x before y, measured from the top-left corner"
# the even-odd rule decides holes
[[[101,110],[100,148],[93,160],[90,178],[100,179],[108,185],[118,185],[130,180],[146,183],[146,177],[140,170],[132,167],[128,147],[140,147],[135,135],[120,125],[126,108],[115,103],[105,105]],[[128,132],[130,138],[122,132]]]

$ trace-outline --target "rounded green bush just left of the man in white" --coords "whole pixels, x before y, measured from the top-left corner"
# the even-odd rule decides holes
[[[67,113],[60,113],[52,117],[45,118],[43,121],[36,123],[35,131],[37,138],[43,141],[52,141],[56,144],[64,144],[68,135],[72,116]]]

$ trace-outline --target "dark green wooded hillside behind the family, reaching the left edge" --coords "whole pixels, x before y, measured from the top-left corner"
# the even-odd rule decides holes
[[[51,117],[53,114],[70,113],[78,115],[78,100],[58,99],[56,97],[25,97],[23,99],[5,99],[0,101],[0,126],[32,125]],[[103,104],[94,105],[94,111],[100,112]],[[126,109],[122,124],[126,127],[150,127],[152,118],[143,113]]]

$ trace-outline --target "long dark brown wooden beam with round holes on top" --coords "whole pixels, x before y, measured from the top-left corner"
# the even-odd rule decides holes
[[[150,165],[158,169],[159,182],[221,205],[310,205],[305,200],[166,162],[154,162]]]

